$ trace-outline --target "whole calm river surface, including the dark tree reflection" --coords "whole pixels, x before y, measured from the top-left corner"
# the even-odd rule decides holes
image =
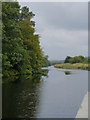
[[[88,90],[88,72],[48,67],[48,77],[3,85],[3,117],[75,118]]]

